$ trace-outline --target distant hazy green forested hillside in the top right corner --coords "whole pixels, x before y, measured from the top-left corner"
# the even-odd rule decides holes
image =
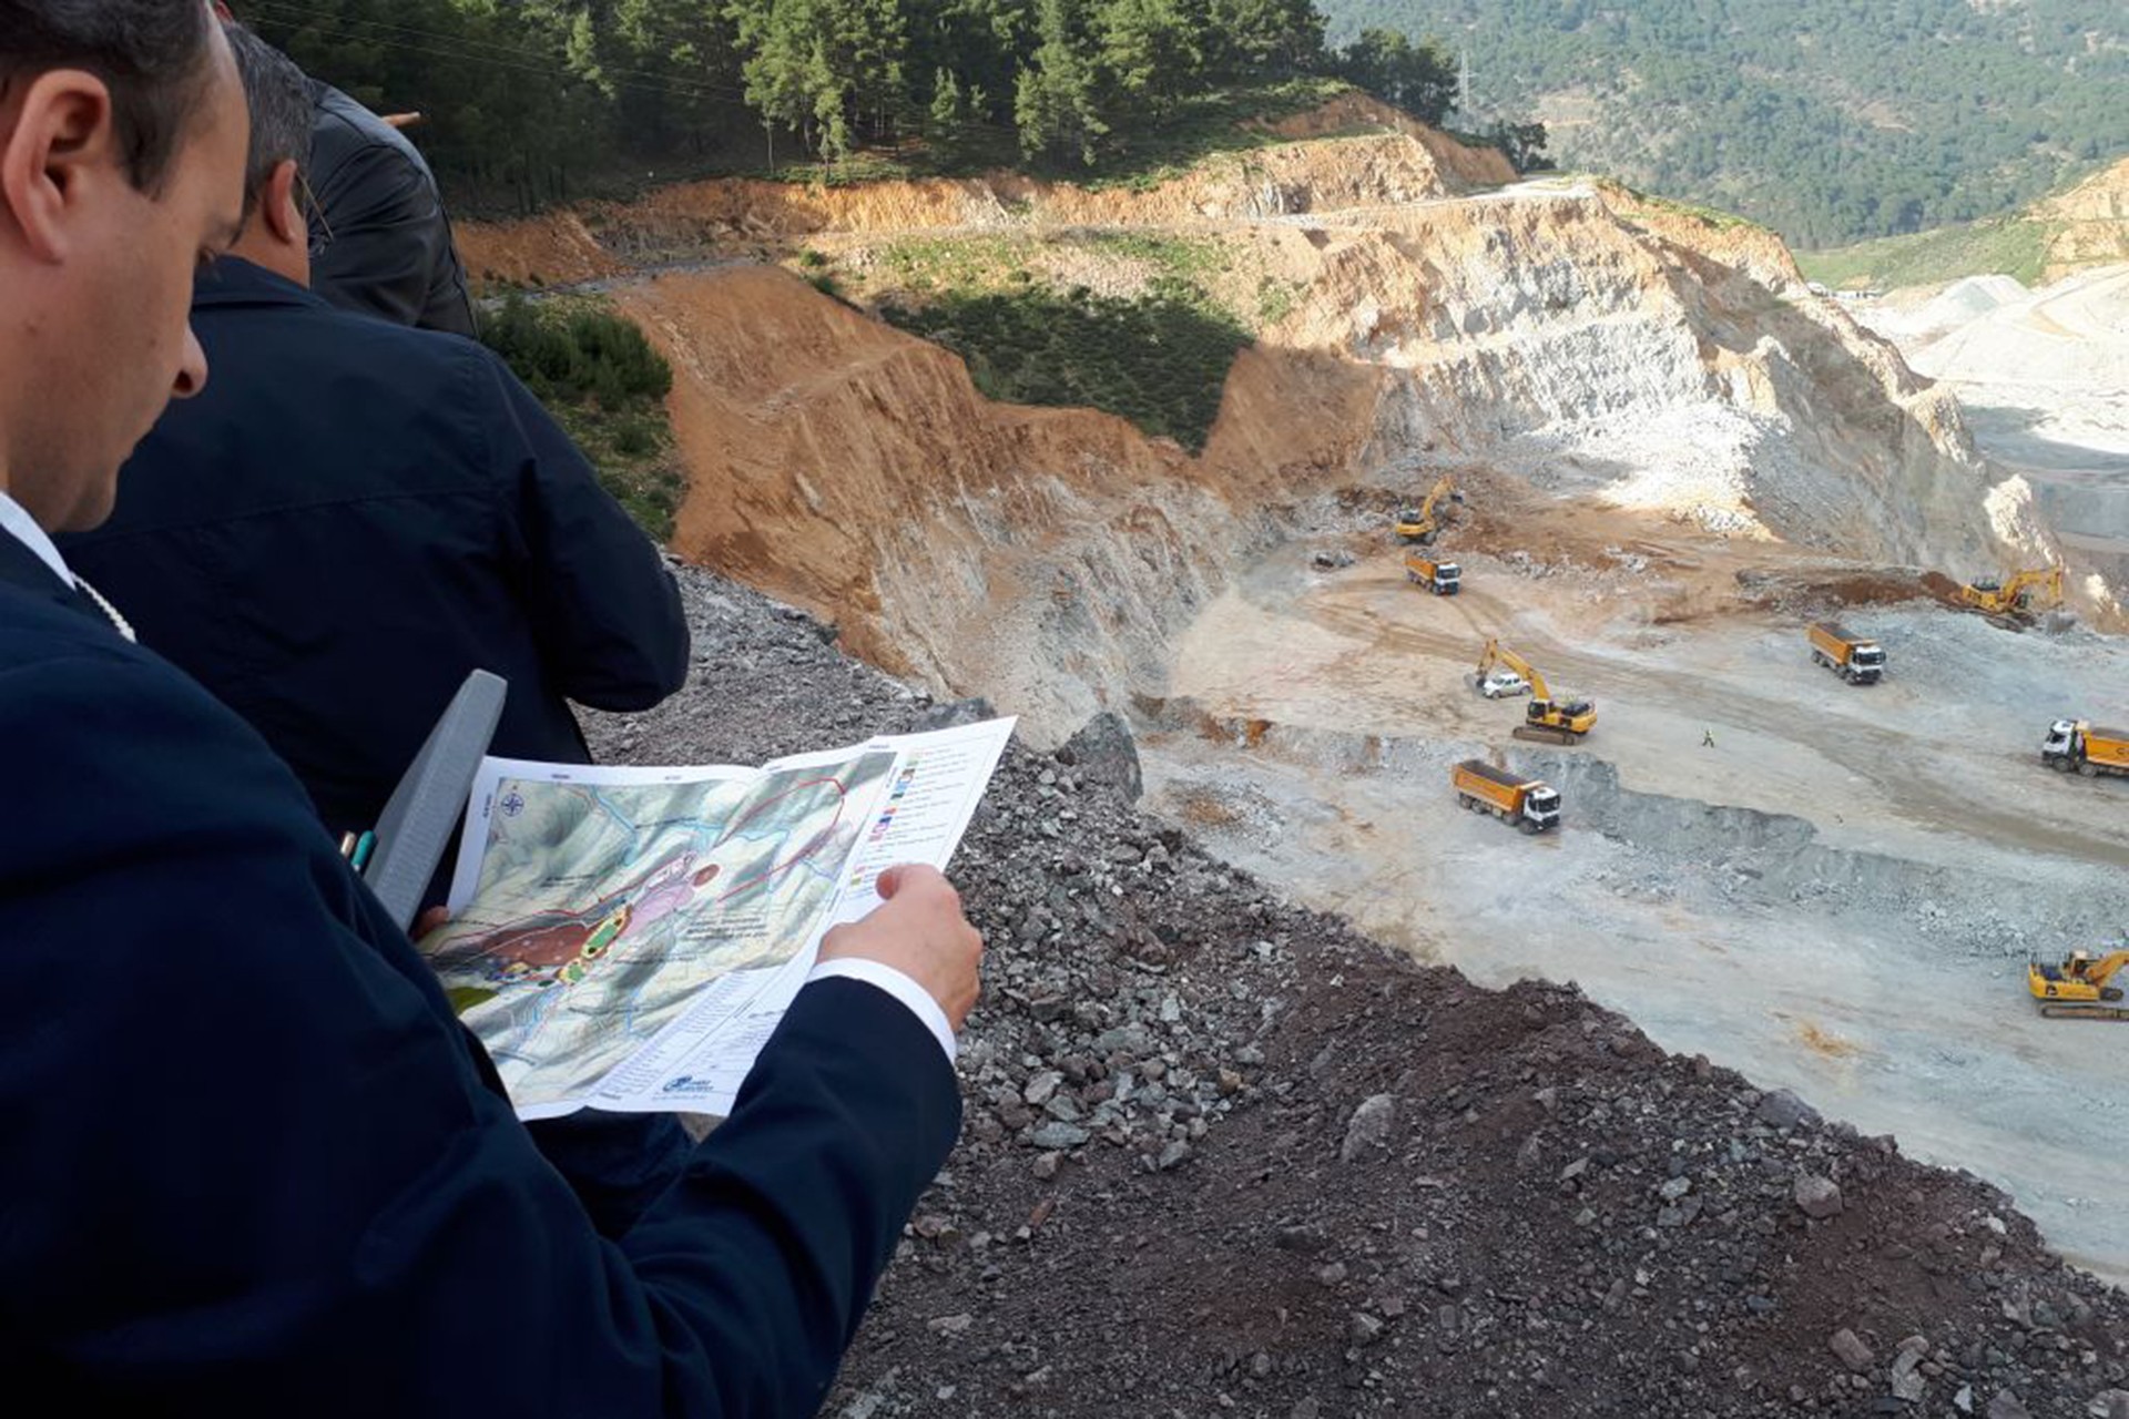
[[[2129,151],[2118,0],[1322,0],[1469,55],[1475,126],[1803,247],[2006,213]]]

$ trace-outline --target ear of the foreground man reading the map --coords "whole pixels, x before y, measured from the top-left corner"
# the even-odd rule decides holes
[[[109,179],[126,181],[104,81],[79,68],[32,79],[0,140],[0,215],[30,255],[64,262],[83,200]]]

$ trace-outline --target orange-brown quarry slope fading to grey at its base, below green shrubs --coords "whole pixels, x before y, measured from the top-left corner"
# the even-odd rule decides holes
[[[1245,351],[1196,460],[1090,411],[984,400],[960,360],[758,266],[622,294],[679,374],[681,555],[832,619],[845,645],[1043,732],[1158,674],[1258,498],[1346,477],[1373,377]]]

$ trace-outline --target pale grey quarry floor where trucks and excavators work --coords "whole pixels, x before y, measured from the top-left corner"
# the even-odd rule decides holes
[[[2120,713],[2129,647],[1850,608],[1893,670],[1850,687],[1799,619],[1714,608],[1780,549],[1456,553],[1469,589],[1435,598],[1367,545],[1328,574],[1267,557],[1194,623],[1171,696],[1235,736],[1150,736],[1158,813],[1422,957],[1573,979],[1667,1049],[1971,1168],[2129,1276],[2129,1028],[2044,1021],[2023,989],[2029,951],[2129,923],[2129,783],[2035,755],[2057,715]],[[1486,634],[1597,700],[1586,745],[1509,738],[1520,700],[1469,687]],[[1565,830],[1458,813],[1448,766],[1475,753],[1552,779]]]

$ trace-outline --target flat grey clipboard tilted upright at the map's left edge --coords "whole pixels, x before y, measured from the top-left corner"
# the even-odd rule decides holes
[[[466,813],[473,774],[488,755],[507,694],[500,674],[468,674],[377,819],[377,849],[362,881],[402,932],[413,925],[428,879],[436,874],[443,849]]]

